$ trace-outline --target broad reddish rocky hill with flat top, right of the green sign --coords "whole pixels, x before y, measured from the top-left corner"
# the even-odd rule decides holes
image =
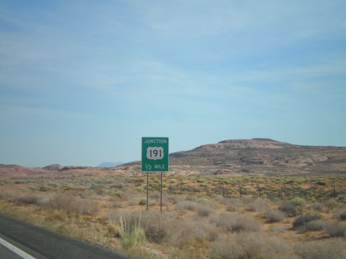
[[[346,147],[224,140],[170,154],[170,169],[220,175],[346,175]]]

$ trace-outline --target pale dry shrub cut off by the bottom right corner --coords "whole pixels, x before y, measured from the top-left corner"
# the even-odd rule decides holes
[[[296,253],[304,259],[346,258],[345,244],[341,239],[301,244],[296,248]]]

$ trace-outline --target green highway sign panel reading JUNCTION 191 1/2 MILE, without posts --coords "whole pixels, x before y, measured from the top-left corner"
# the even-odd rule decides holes
[[[168,171],[168,137],[142,137],[142,171]]]

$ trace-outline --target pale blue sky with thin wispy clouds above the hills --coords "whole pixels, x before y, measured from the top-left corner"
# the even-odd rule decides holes
[[[0,163],[346,146],[346,2],[0,1]]]

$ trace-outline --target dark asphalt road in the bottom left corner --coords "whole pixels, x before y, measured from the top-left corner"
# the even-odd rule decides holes
[[[69,238],[6,215],[0,215],[0,239],[37,259],[129,259],[97,245]],[[25,258],[24,256],[17,256],[16,253],[3,246],[1,240],[0,258]]]

